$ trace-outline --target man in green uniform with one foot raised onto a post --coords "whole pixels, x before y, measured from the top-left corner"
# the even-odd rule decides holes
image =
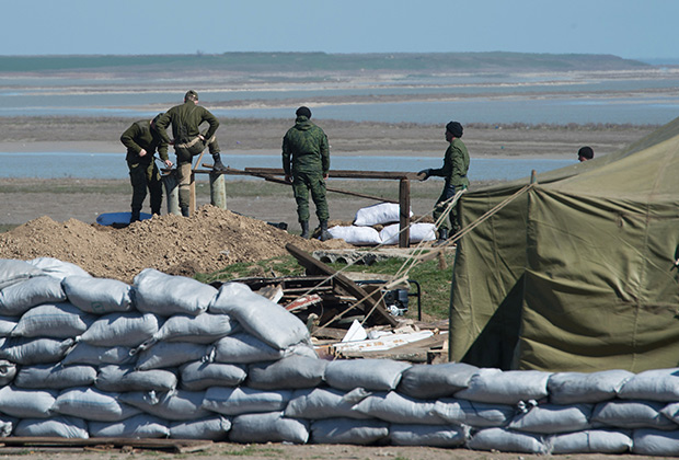
[[[207,122],[209,127],[200,133],[199,127]],[[168,136],[168,126],[172,124],[171,140]],[[200,154],[206,147],[212,156],[215,171],[225,171],[227,168],[221,162],[219,145],[215,131],[219,127],[219,120],[207,108],[198,105],[198,93],[194,90],[184,95],[184,103],[170,108],[156,122],[156,130],[160,137],[174,145],[176,153],[176,168],[180,182],[180,208],[182,216],[188,217],[188,204],[191,200],[191,166],[193,157]]]

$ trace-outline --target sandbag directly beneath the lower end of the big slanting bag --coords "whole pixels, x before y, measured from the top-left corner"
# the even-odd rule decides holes
[[[313,388],[323,381],[326,366],[326,360],[296,355],[274,363],[252,364],[246,384],[260,390]]]

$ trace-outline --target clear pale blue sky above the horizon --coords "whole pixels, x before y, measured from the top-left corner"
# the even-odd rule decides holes
[[[679,60],[677,0],[4,0],[0,55],[611,54]]]

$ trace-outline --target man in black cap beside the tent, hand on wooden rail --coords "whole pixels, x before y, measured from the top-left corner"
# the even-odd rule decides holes
[[[446,125],[446,140],[450,142],[446,154],[444,157],[444,165],[439,169],[427,169],[419,171],[419,174],[424,174],[423,181],[435,175],[444,177],[446,185],[441,195],[436,200],[436,207],[434,208],[434,220],[438,221],[439,217],[446,211],[448,202],[452,198],[457,192],[469,187],[469,179],[467,179],[467,171],[469,170],[469,152],[467,146],[462,142],[462,125],[458,122],[450,122]],[[448,240],[450,231],[451,234],[460,231],[460,221],[458,218],[457,206],[450,210],[448,223],[442,220],[438,227],[438,241],[435,244],[441,244]]]

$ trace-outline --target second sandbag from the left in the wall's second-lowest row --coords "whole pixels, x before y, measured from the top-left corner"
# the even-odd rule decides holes
[[[119,401],[120,393],[104,392],[92,387],[61,391],[53,412],[93,422],[120,422],[138,415],[141,410]]]

